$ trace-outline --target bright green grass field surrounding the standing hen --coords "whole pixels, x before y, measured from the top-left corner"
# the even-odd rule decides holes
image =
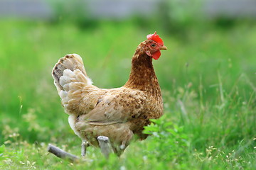
[[[256,26],[191,28],[180,38],[131,22],[0,23],[0,169],[256,168]],[[165,115],[146,128],[153,135],[109,160],[92,147],[79,164],[47,154],[48,143],[80,154],[50,75],[55,62],[78,53],[96,86],[122,86],[154,30],[169,50],[154,61]]]

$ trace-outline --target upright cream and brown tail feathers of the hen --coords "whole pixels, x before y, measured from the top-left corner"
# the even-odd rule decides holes
[[[82,88],[92,84],[79,55],[66,55],[53,67],[54,84],[67,113],[74,112],[82,98]]]

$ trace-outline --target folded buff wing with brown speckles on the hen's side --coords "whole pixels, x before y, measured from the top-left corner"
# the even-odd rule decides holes
[[[124,123],[138,118],[144,108],[146,96],[143,91],[119,88],[100,98],[92,111],[81,115],[78,122],[90,125]]]

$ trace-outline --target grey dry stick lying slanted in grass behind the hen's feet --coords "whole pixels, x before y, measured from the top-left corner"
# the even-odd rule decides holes
[[[48,145],[48,152],[55,154],[56,157],[59,157],[61,159],[68,159],[70,162],[79,162],[81,159],[74,154],[70,154],[68,152],[65,152],[63,149],[60,149],[58,147],[55,147],[51,144]]]

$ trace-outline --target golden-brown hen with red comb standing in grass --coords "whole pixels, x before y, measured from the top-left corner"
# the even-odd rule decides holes
[[[82,58],[72,54],[60,58],[53,67],[57,87],[68,122],[83,141],[99,146],[97,137],[110,139],[115,153],[121,154],[134,135],[144,140],[142,133],[149,119],[163,114],[161,89],[154,72],[152,58],[158,60],[166,50],[156,33],[146,36],[132,57],[132,71],[124,86],[100,89],[92,85]]]

